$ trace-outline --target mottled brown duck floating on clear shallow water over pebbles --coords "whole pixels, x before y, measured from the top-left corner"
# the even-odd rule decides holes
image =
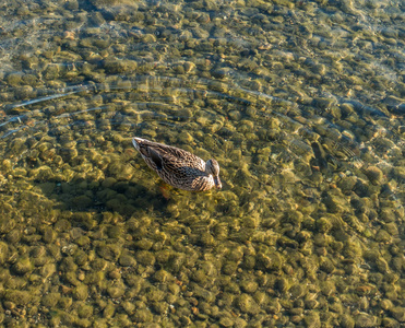
[[[132,143],[166,184],[189,191],[222,188],[219,164],[215,160],[204,162],[182,149],[142,138],[133,138]]]

